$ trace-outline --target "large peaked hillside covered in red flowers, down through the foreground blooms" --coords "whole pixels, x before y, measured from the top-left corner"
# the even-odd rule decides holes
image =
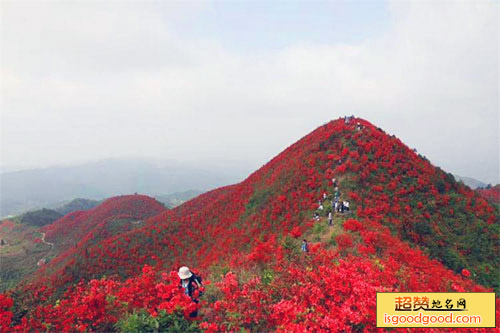
[[[333,178],[350,212],[336,213],[329,227]],[[31,327],[109,330],[141,309],[175,317],[180,304],[189,313],[192,304],[175,296],[175,274],[159,276],[180,265],[212,281],[201,305],[207,330],[371,331],[375,291],[499,288],[498,208],[362,119],[325,124],[243,182],[156,214],[104,238],[73,223],[78,215],[45,227],[47,239],[68,250],[13,293],[14,323],[23,325],[28,311]],[[92,221],[107,230],[105,214]],[[311,242],[309,254],[300,253],[299,238]],[[70,289],[53,305],[72,283],[103,276],[110,278]],[[46,286],[47,303],[28,296]],[[164,288],[169,296],[158,294]],[[74,308],[82,302],[87,310]],[[107,310],[112,304],[118,313]],[[62,311],[70,319],[61,321]]]

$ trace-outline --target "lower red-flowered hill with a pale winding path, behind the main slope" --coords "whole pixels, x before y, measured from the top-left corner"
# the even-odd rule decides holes
[[[96,242],[137,228],[139,221],[164,209],[152,198],[131,195],[108,199],[88,211],[69,213],[50,225],[40,223],[37,219],[39,214],[34,214],[36,212],[29,214],[34,223],[26,223],[24,215],[2,221],[0,239],[6,244],[0,248],[0,290],[31,276],[39,266],[43,270],[52,259],[64,261],[65,258],[72,258],[75,255],[72,250],[77,244],[88,246],[85,240]]]

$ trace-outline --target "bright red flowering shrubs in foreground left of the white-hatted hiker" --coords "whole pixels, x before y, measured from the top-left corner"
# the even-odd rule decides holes
[[[2,297],[0,295],[0,309],[2,306],[11,307],[12,300],[7,298],[5,301]],[[179,320],[187,320],[198,308],[199,305],[179,288],[176,272],[164,273],[162,279],[158,279],[152,267],[144,266],[141,275],[124,282],[114,279],[81,282],[69,289],[54,305],[38,305],[31,312],[29,321],[11,329],[49,327],[58,332],[111,331],[120,318],[134,311],[146,310],[153,317],[164,311],[176,314]],[[0,312],[1,323],[4,323],[2,328],[9,330],[12,313],[5,313]]]

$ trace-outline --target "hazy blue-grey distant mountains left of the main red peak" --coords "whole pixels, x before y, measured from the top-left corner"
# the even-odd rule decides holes
[[[55,208],[72,198],[102,200],[133,193],[157,196],[192,189],[206,191],[241,180],[238,171],[229,168],[205,169],[172,162],[160,165],[136,159],[6,172],[0,177],[2,217]],[[176,204],[167,199],[167,205]]]

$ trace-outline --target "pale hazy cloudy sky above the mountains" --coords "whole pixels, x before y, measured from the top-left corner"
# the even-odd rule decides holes
[[[107,157],[256,169],[366,118],[499,180],[495,1],[1,1],[2,168]]]

